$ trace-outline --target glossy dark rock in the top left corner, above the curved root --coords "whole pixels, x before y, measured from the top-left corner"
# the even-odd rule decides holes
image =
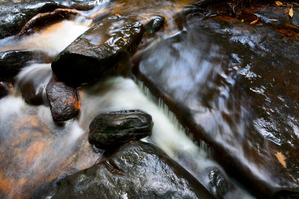
[[[0,39],[17,34],[33,16],[58,8],[53,1],[0,1]]]

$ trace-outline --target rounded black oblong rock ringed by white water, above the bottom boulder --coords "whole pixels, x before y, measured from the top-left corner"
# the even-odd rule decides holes
[[[89,142],[99,149],[118,147],[152,134],[152,116],[140,110],[98,115],[89,125]]]

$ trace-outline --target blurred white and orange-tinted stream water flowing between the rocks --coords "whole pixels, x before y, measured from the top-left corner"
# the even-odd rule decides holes
[[[166,17],[164,37],[167,37],[179,31],[173,28],[173,16],[183,6],[194,2],[103,2],[85,14],[100,18],[103,13],[117,12],[142,23],[146,23],[153,15],[163,15]],[[22,38],[5,38],[0,41],[0,49],[39,50],[55,56],[92,25],[90,20],[82,18],[63,20]],[[205,75],[205,71],[202,72]],[[213,160],[212,156],[216,154],[204,142],[194,142],[192,134],[189,135],[188,129],[179,124],[163,101],[152,97],[133,75],[106,78],[93,85],[80,87],[80,114],[60,125],[52,119],[45,90],[44,103],[39,106],[26,104],[21,96],[24,82],[31,81],[45,89],[45,82],[51,78],[51,64],[29,64],[15,77],[10,94],[0,99],[1,198],[28,198],[39,189],[46,189],[44,185],[93,165],[101,152],[95,151],[88,143],[90,122],[100,113],[127,109],[141,109],[152,115],[152,135],[143,140],[163,149],[208,190],[213,192],[207,172],[217,169],[233,187],[233,191],[225,195],[226,198],[236,195],[239,198],[253,198]]]

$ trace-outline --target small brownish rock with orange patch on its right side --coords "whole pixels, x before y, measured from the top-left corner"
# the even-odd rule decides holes
[[[53,120],[62,122],[79,113],[78,92],[63,82],[50,82],[46,87]]]

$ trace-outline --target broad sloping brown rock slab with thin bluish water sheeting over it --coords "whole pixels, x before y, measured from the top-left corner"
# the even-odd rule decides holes
[[[295,192],[298,55],[279,51],[289,44],[269,25],[217,19],[188,25],[135,56],[133,73],[255,195]]]

